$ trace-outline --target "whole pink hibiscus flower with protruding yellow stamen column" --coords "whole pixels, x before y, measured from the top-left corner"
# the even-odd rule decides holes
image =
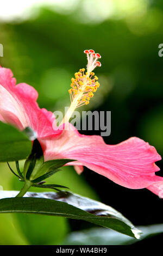
[[[70,119],[74,109],[88,104],[93,92],[99,87],[98,77],[92,72],[101,63],[101,56],[86,50],[87,71],[81,69],[72,78],[71,106],[61,125]],[[155,162],[161,160],[156,149],[140,138],[129,138],[117,145],[107,145],[101,136],[85,136],[72,126],[58,129],[52,112],[37,105],[36,90],[26,83],[16,85],[9,69],[0,68],[0,120],[19,130],[31,127],[37,133],[45,161],[54,159],[77,160],[78,173],[83,166],[106,176],[115,183],[128,188],[148,188],[163,198],[163,178],[155,175],[159,169]]]

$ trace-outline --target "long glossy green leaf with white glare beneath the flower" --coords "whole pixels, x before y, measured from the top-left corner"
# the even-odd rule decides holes
[[[24,212],[62,216],[84,220],[116,230],[131,237],[140,237],[141,231],[120,212],[108,205],[70,192],[27,192],[24,198],[15,197],[16,191],[0,191],[0,213]]]

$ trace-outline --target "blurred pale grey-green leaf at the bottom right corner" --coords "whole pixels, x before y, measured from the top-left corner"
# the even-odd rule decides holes
[[[163,224],[137,227],[142,231],[139,240],[106,228],[91,228],[72,232],[62,242],[63,245],[131,245],[148,237],[163,233]]]

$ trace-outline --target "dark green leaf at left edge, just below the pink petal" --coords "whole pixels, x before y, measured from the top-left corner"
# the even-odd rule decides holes
[[[32,149],[28,137],[15,127],[0,122],[0,162],[26,159]]]

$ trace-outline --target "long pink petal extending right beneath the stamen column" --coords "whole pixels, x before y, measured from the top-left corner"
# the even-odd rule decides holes
[[[133,137],[117,145],[107,145],[101,136],[80,135],[74,127],[63,131],[55,141],[41,141],[45,160],[74,159],[128,188],[145,188],[161,181],[154,163],[161,159],[155,148]]]

